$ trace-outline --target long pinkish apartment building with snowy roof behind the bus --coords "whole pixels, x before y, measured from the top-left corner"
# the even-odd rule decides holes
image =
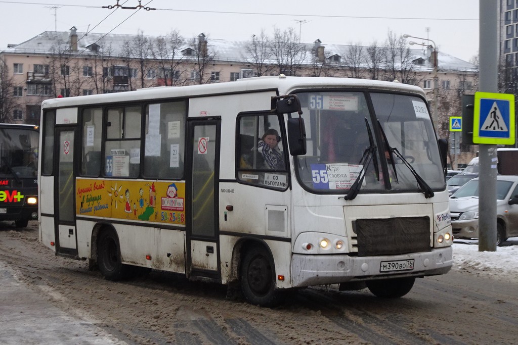
[[[39,107],[47,98],[232,82],[284,73],[396,79],[418,85],[434,104],[439,134],[448,137],[448,117],[461,111],[457,100],[477,88],[477,66],[430,47],[408,49],[405,56],[400,51],[399,56],[392,54],[392,61],[386,57],[390,54],[382,54],[389,47],[374,47],[380,56],[376,61],[373,47],[324,45],[317,39],[311,44],[297,42],[296,54],[292,50],[293,55],[282,61],[283,57],[276,55],[289,53],[273,51],[275,44],[267,44],[208,39],[204,34],[172,42],[167,37],[78,33],[75,27],[68,32],[43,32],[0,53],[16,103],[10,122],[39,123]],[[404,50],[407,53],[407,48]],[[459,151],[469,153],[468,158],[472,156],[470,147],[455,144]]]

